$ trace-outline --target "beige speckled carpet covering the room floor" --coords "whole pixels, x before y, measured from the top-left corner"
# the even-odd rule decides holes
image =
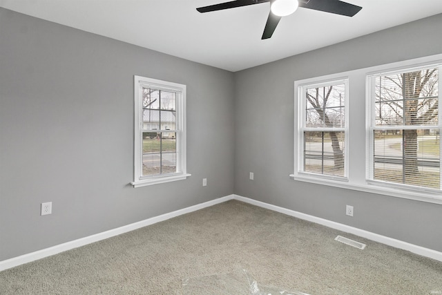
[[[442,294],[439,261],[236,200],[7,269],[0,294],[184,294],[242,269],[307,294]]]

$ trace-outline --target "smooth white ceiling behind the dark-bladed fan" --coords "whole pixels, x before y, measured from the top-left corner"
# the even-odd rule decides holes
[[[229,0],[0,0],[0,7],[237,71],[442,13],[442,0],[347,0],[354,17],[299,8],[261,40],[269,3],[200,13]]]

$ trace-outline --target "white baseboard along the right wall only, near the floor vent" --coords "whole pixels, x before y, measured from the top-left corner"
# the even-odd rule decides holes
[[[330,221],[330,220],[323,219],[323,218],[318,218],[316,216],[311,216],[311,215],[301,213],[298,211],[293,211],[293,210],[286,209],[283,207],[278,207],[278,206],[275,206],[272,204],[267,204],[265,202],[260,202],[257,200],[244,198],[242,196],[233,195],[233,199],[238,200],[238,201],[242,201],[242,202],[246,202],[249,204],[253,204],[255,206],[269,209],[272,211],[277,211],[277,212],[280,212],[280,213],[283,213],[283,214],[286,214],[289,216],[294,216],[296,218],[300,218],[303,220],[315,222],[315,223],[318,223],[319,225],[331,227],[332,229],[338,229],[340,231],[344,231],[349,234],[361,236],[361,237],[367,238],[369,240],[374,240],[375,242],[381,242],[382,244],[385,244],[385,245],[389,245],[389,246],[392,246],[392,247],[395,247],[398,249],[407,250],[407,251],[410,251],[414,254],[419,254],[421,256],[425,256],[425,257],[432,258],[434,260],[439,260],[442,262],[442,252],[439,252],[436,250],[427,249],[425,247],[410,244],[409,242],[403,242],[402,240],[396,240],[394,238],[389,238],[387,236],[381,236],[379,234],[374,234],[370,231],[365,231],[363,229],[358,229],[356,227],[350,227],[348,225],[343,225],[342,223]]]

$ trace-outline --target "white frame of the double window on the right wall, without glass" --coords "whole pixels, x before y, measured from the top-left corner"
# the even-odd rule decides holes
[[[421,202],[430,202],[434,204],[442,204],[442,191],[434,191],[427,189],[410,189],[407,187],[382,186],[377,182],[372,182],[367,178],[367,155],[369,146],[367,143],[367,133],[370,132],[369,123],[367,122],[367,97],[368,84],[367,76],[373,73],[391,72],[401,68],[415,68],[421,66],[428,66],[442,63],[442,54],[432,55],[428,57],[419,57],[416,59],[409,59],[405,61],[398,61],[391,64],[383,64],[380,66],[372,66],[369,68],[360,68],[356,70],[349,70],[343,73],[335,73],[332,75],[325,75],[321,77],[314,77],[308,79],[300,79],[294,82],[294,173],[289,176],[295,181],[310,182],[314,184],[322,184],[330,187],[338,187],[343,189],[351,189],[356,191],[364,191],[367,193],[376,193],[384,196],[391,196],[395,198],[405,198],[409,200],[418,200]],[[314,84],[317,82],[327,82],[348,77],[349,79],[349,102],[346,104],[349,113],[349,120],[347,121],[347,159],[348,159],[348,181],[336,180],[334,178],[321,178],[318,175],[311,175],[311,173],[300,173],[298,171],[300,152],[299,144],[299,93],[298,86],[304,84]],[[439,86],[441,86],[441,73],[439,73]],[[439,94],[441,95],[441,94]],[[302,109],[302,108],[300,108]],[[439,114],[440,118],[441,114]],[[442,158],[442,153],[441,153]],[[320,176],[320,175],[319,175]]]

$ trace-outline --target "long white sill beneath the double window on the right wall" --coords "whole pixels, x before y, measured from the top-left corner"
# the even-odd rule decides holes
[[[291,178],[296,181],[310,182],[314,184],[328,185],[330,187],[339,187],[342,189],[352,189],[354,191],[363,191],[366,193],[376,193],[384,196],[391,196],[395,198],[404,198],[408,200],[416,200],[421,202],[430,202],[434,204],[442,204],[442,194],[432,193],[425,190],[405,190],[396,189],[393,187],[381,187],[375,183],[369,182],[365,184],[354,184],[349,182],[330,180],[330,179],[319,179],[307,177],[300,174],[290,174]]]

